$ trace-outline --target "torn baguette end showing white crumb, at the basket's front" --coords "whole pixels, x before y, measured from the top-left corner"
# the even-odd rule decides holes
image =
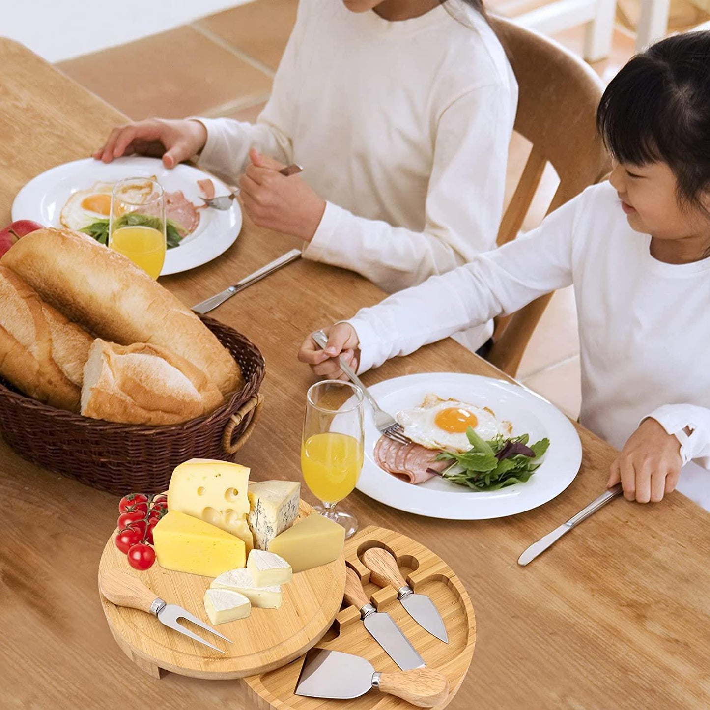
[[[224,401],[217,386],[185,358],[146,343],[97,338],[84,366],[82,415],[123,424],[179,424]]]

